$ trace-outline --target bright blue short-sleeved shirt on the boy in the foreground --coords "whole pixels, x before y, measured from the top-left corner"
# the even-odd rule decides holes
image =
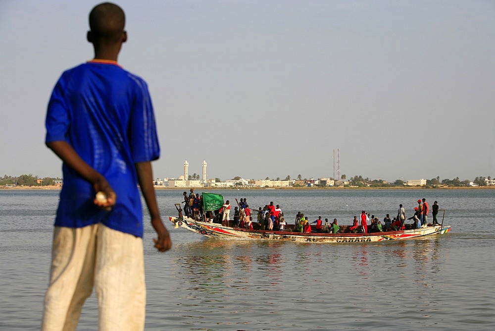
[[[146,82],[116,62],[90,61],[65,71],[47,111],[46,142],[66,141],[101,173],[117,194],[110,212],[94,205],[93,186],[62,165],[56,226],[95,223],[143,236],[143,212],[134,166],[158,159],[160,148]]]

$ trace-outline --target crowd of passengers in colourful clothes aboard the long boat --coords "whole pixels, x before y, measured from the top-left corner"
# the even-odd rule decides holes
[[[189,195],[184,192],[184,213],[187,217],[194,220],[204,220],[207,222],[224,222],[230,225],[230,211],[231,204],[227,200],[225,204],[216,211],[203,210],[202,195],[194,193],[194,189],[190,190]],[[256,217],[257,230],[275,230],[284,231],[287,226],[284,213],[280,208],[280,205],[275,205],[273,201],[270,204],[265,205],[263,208],[259,207],[258,210],[251,210],[247,204],[246,198],[235,198],[237,206],[234,207],[234,219],[233,227],[244,228],[253,230],[253,215]],[[425,198],[418,199],[418,205],[414,208],[414,215],[406,219],[405,209],[402,204],[399,205],[397,210],[397,216],[391,219],[390,214],[387,214],[382,221],[375,215],[366,213],[362,210],[359,219],[354,216],[352,225],[346,226],[346,232],[351,233],[375,233],[375,232],[387,232],[387,231],[399,231],[406,229],[406,220],[412,221],[411,224],[407,224],[408,229],[426,227],[428,224],[428,214],[430,212],[430,206]],[[180,207],[177,208],[179,213],[182,213]],[[432,225],[439,224],[437,221],[437,215],[439,211],[438,202],[435,201],[432,206]],[[314,229],[311,228],[311,224],[315,224]],[[338,224],[337,219],[334,219],[329,223],[328,219],[322,220],[321,216],[317,220],[310,222],[308,217],[304,216],[301,212],[296,215],[296,223],[294,231],[300,233],[311,233],[311,231],[323,232],[323,233],[341,233],[341,227]]]

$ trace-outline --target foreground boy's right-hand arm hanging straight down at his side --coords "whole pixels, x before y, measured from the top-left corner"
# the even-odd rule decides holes
[[[163,225],[160,218],[160,212],[158,211],[158,204],[156,203],[156,196],[153,188],[153,171],[151,169],[150,162],[139,162],[135,164],[136,172],[138,174],[139,186],[141,192],[145,197],[146,205],[148,206],[149,215],[151,216],[151,225],[158,234],[158,239],[154,239],[154,247],[160,252],[165,252],[172,247],[172,240],[170,235]]]

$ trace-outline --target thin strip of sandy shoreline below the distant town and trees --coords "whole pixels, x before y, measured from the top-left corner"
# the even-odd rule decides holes
[[[166,187],[155,186],[155,190],[264,190],[265,187]],[[4,190],[57,190],[61,189],[59,185],[46,186],[15,186],[6,187],[0,186]],[[423,186],[393,186],[393,187],[342,187],[342,186],[327,186],[327,187],[270,187],[275,190],[490,190],[495,189],[495,186],[442,186],[442,187],[423,187]]]

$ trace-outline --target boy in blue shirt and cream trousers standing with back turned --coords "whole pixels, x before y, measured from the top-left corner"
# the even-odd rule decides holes
[[[125,14],[112,3],[90,13],[95,59],[65,71],[47,111],[47,146],[63,161],[43,330],[75,330],[93,287],[100,330],[143,330],[146,285],[139,183],[160,252],[151,161],[160,149],[146,82],[122,69]],[[106,199],[96,199],[103,192]]]

